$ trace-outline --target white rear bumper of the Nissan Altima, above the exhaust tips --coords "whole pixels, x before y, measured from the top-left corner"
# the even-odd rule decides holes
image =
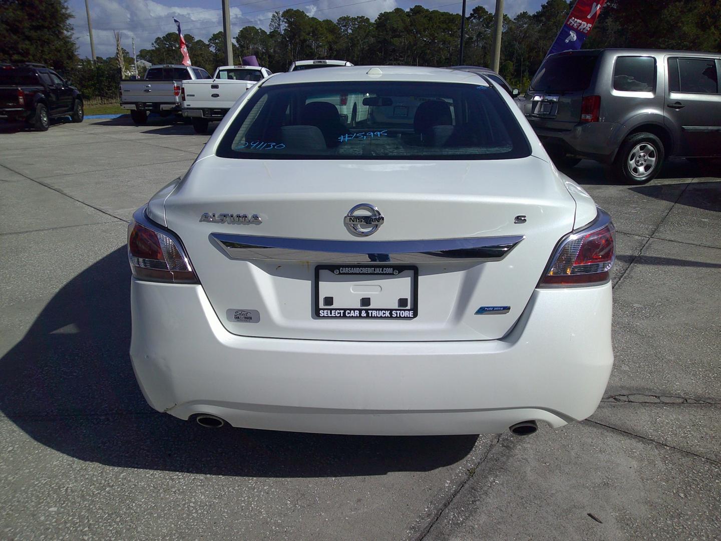
[[[229,333],[202,286],[131,286],[148,403],[187,419],[335,434],[478,434],[591,415],[609,379],[611,284],[534,291],[503,340],[350,342]]]

